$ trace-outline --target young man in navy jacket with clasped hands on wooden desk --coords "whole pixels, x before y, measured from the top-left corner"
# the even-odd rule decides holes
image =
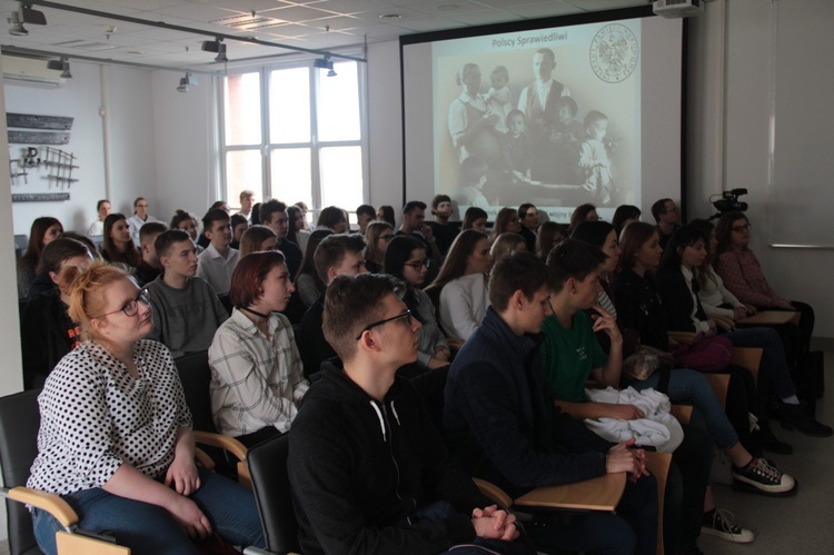
[[[545,549],[655,553],[657,484],[645,453],[615,446],[556,408],[539,347],[550,315],[547,267],[532,252],[498,260],[489,278],[492,307],[451,364],[444,429],[464,470],[512,497],[540,486],[627,472],[617,515],[588,513],[569,522],[537,514],[528,527]]]

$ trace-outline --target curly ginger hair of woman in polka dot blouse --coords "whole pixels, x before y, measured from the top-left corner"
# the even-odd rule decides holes
[[[70,297],[68,314],[81,327],[83,339],[98,339],[90,321],[107,309],[103,289],[120,279],[130,279],[130,274],[107,262],[92,262],[87,269],[68,266],[61,270],[58,287]]]

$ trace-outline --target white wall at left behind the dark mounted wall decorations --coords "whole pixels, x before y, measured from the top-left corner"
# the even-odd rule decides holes
[[[14,202],[16,234],[29,235],[32,220],[40,216],[53,216],[64,229],[86,232],[97,218],[96,202],[107,197],[106,160],[113,211],[130,215],[133,199],[145,196],[153,212],[157,187],[150,71],[73,61],[72,75],[60,89],[6,85],[7,111],[75,118],[69,145],[59,148],[76,155],[79,166],[72,172],[79,181],[68,189],[70,200]],[[12,145],[11,156],[19,157],[21,148]],[[47,189],[37,178],[30,178],[30,186],[22,185],[20,178],[17,182],[20,185],[12,186],[12,192],[61,190]]]

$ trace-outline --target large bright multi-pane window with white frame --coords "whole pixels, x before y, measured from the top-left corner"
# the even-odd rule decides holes
[[[364,67],[334,63],[336,77],[308,66],[232,75],[222,87],[222,176],[236,205],[250,189],[257,200],[302,200],[312,210],[351,211],[367,197]]]

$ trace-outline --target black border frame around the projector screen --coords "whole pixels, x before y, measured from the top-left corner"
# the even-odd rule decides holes
[[[473,38],[473,37],[481,37],[481,36],[490,36],[490,34],[499,34],[499,33],[509,33],[509,32],[516,32],[516,31],[535,31],[538,29],[552,29],[552,28],[564,28],[564,27],[574,27],[574,26],[580,26],[585,23],[600,23],[606,21],[616,21],[616,20],[625,20],[625,19],[636,19],[636,18],[655,18],[657,17],[653,11],[651,4],[643,6],[643,7],[634,7],[634,8],[625,8],[625,9],[618,9],[618,10],[605,10],[605,11],[596,11],[596,12],[583,12],[583,13],[575,13],[575,14],[568,14],[568,16],[556,16],[550,18],[540,18],[540,19],[530,19],[530,20],[523,20],[523,21],[509,21],[505,23],[493,23],[493,24],[486,24],[486,26],[477,26],[477,27],[466,27],[466,28],[459,28],[459,29],[447,29],[447,30],[440,30],[440,31],[430,31],[430,32],[423,32],[423,33],[414,33],[414,34],[405,34],[400,36],[399,38],[399,56],[400,56],[400,106],[401,106],[401,129],[403,129],[403,204],[407,202],[408,196],[408,145],[407,145],[407,136],[408,130],[406,128],[406,75],[405,75],[405,49],[408,46],[411,44],[419,44],[419,43],[426,43],[426,42],[435,42],[435,41],[444,41],[444,40],[454,40],[454,39],[464,39],[464,38]],[[686,168],[686,149],[687,149],[687,110],[686,110],[686,96],[687,96],[687,75],[688,75],[688,67],[687,67],[687,59],[688,59],[688,20],[684,18],[682,20],[682,32],[681,32],[681,99],[679,99],[679,188],[675,191],[674,189],[669,189],[669,198],[675,199],[675,194],[677,194],[678,206],[681,208],[682,218],[684,221],[686,220],[686,214],[687,214],[687,201],[686,201],[686,190],[687,190],[687,184],[686,184],[686,175],[687,175],[687,168]],[[641,206],[639,200],[637,202],[638,206]],[[645,206],[641,206],[641,208],[644,208],[644,216],[643,219],[646,221],[652,221],[653,218],[651,214],[646,214],[647,210]],[[459,221],[463,219],[463,215],[458,214],[458,218],[455,219],[456,221]]]

